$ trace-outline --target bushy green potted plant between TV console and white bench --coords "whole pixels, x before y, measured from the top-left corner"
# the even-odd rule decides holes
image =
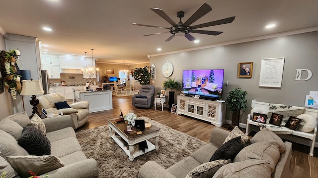
[[[229,127],[230,130],[235,126],[239,126],[239,113],[240,110],[246,109],[246,96],[247,92],[240,88],[232,89],[228,92],[227,106],[232,112],[232,124]]]

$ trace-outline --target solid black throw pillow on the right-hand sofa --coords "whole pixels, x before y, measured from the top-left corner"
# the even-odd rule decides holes
[[[233,161],[242,148],[240,136],[232,138],[215,151],[210,161],[219,159],[231,159]]]

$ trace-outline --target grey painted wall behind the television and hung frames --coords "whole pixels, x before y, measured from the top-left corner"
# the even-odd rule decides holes
[[[191,43],[191,42],[189,42]],[[195,51],[179,52],[155,56],[150,65],[156,65],[156,80],[152,83],[156,91],[166,78],[161,74],[162,64],[170,61],[174,71],[172,78],[182,82],[182,70],[225,69],[223,99],[231,89],[241,88],[248,92],[246,113],[241,114],[240,122],[246,123],[252,99],[264,102],[304,106],[305,96],[311,90],[318,90],[318,32],[290,35],[235,45],[225,45]],[[263,58],[285,57],[282,88],[258,87],[260,63]],[[252,78],[238,78],[238,63],[253,62]],[[313,77],[309,81],[295,81],[296,69],[309,69]],[[175,100],[176,103],[176,100]],[[227,120],[231,113],[227,111]]]

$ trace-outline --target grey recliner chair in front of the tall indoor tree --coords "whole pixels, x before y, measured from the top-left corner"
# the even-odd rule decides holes
[[[135,107],[151,108],[155,101],[155,86],[143,85],[140,87],[139,94],[131,97],[131,103]]]

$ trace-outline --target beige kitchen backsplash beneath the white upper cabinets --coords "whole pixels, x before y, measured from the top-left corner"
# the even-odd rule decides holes
[[[72,85],[72,84],[84,84],[86,82],[96,82],[97,85],[100,85],[100,82],[97,82],[96,79],[83,79],[83,74],[61,74],[61,79],[50,79],[50,83],[53,85],[54,83],[60,83],[61,81],[65,81],[65,85]]]

